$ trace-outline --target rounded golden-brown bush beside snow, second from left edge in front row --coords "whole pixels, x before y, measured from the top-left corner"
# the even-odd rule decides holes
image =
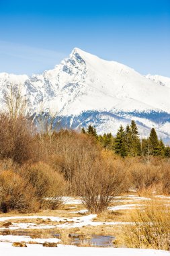
[[[23,166],[20,173],[24,180],[34,187],[42,208],[54,210],[62,204],[61,196],[65,193],[65,179],[48,164],[38,162]]]

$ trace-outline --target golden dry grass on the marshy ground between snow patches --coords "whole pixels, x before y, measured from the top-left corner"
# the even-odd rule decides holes
[[[124,197],[122,197],[122,199],[124,199]],[[124,202],[121,201],[113,204],[124,205],[124,203],[128,205],[128,202],[126,202],[126,199],[124,200]],[[129,204],[131,203],[132,202],[129,202]],[[5,230],[5,232],[7,232],[7,234],[22,234],[21,232],[23,232],[23,235],[27,234],[32,238],[52,238],[52,237],[56,237],[56,234],[58,234],[57,238],[61,239],[61,243],[67,244],[67,245],[73,245],[75,243],[71,238],[71,236],[69,236],[69,234],[75,234],[77,236],[81,236],[85,238],[85,241],[84,239],[82,239],[82,243],[80,241],[80,244],[79,244],[79,246],[85,246],[85,247],[93,246],[91,245],[91,242],[87,240],[88,238],[91,238],[91,236],[94,234],[101,235],[101,236],[110,235],[110,236],[116,236],[116,241],[114,242],[114,246],[121,245],[126,247],[137,247],[137,248],[140,247],[140,248],[168,249],[169,244],[161,240],[164,234],[169,234],[168,233],[169,231],[167,230],[170,230],[170,226],[169,226],[170,210],[166,212],[167,207],[165,207],[165,203],[168,203],[167,198],[155,199],[155,201],[153,200],[153,203],[151,203],[151,201],[135,201],[135,203],[136,204],[139,203],[141,205],[140,209],[132,208],[129,210],[106,211],[106,212],[103,212],[102,214],[98,214],[97,218],[95,218],[94,221],[102,222],[102,225],[100,226],[83,226],[81,228],[50,228],[50,229],[42,229],[42,230],[29,229],[29,230],[19,230],[19,231]],[[75,207],[75,208],[69,209],[69,207]],[[21,220],[19,219],[11,220],[11,222],[15,222],[15,223],[32,222],[37,226],[40,224],[48,224],[48,225],[61,224],[64,222],[60,222],[60,223],[53,222],[50,220],[50,216],[65,217],[66,219],[75,217],[75,216],[81,216],[81,214],[73,214],[69,212],[69,210],[77,211],[78,209],[81,210],[82,208],[83,208],[83,205],[74,205],[74,204],[64,205],[62,207],[62,210],[53,210],[53,211],[48,210],[48,211],[42,211],[38,213],[38,216],[48,216],[47,220],[42,220],[40,218],[36,218],[36,219],[26,218]],[[13,216],[12,214],[8,214],[8,216],[9,215]],[[7,214],[3,214],[3,216],[7,216]],[[21,216],[21,214],[19,214],[19,216]],[[31,214],[28,214],[28,215],[24,214],[24,216],[31,216]],[[10,219],[7,220],[7,222],[10,222]],[[65,222],[67,222],[67,220],[65,220]],[[134,224],[125,225],[120,223],[112,226],[112,225],[108,225],[107,222],[134,222]],[[153,232],[152,226],[143,225],[143,223],[148,224],[148,222],[151,222],[151,223],[159,222],[160,224],[160,226],[158,226],[159,231],[161,230],[161,228],[163,230],[163,232],[159,233],[159,242],[158,241],[155,242],[154,240],[155,237],[153,236],[153,233],[152,233]],[[5,223],[6,222],[1,222],[1,226]],[[136,230],[138,230],[138,232],[134,234]],[[146,242],[146,239],[144,238],[144,235],[145,235],[144,230],[145,231],[147,230],[147,235],[149,236],[149,239],[151,239],[150,244]],[[0,232],[0,234],[4,234],[4,233]]]

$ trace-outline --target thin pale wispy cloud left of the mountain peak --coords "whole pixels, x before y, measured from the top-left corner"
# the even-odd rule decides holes
[[[0,72],[39,73],[54,67],[66,56],[58,51],[0,40]]]

